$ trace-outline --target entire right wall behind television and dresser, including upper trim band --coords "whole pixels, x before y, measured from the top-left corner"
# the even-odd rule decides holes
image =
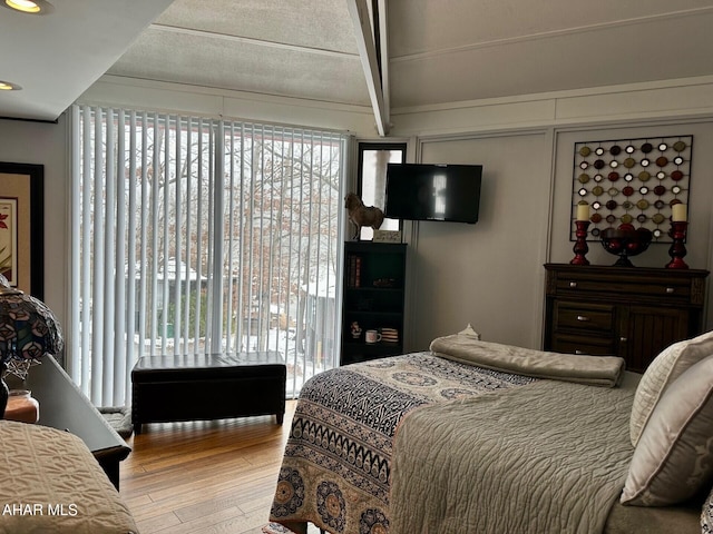
[[[546,261],[573,256],[569,217],[574,144],[693,135],[686,263],[713,267],[713,79],[605,87],[456,102],[392,112],[392,135],[408,137],[416,161],[484,164],[481,220],[475,227],[417,222],[411,244],[411,328],[423,349],[468,322],[485,339],[541,348]],[[439,226],[441,225],[441,226]],[[616,258],[596,243],[588,259]],[[667,245],[635,265],[662,267]],[[709,281],[709,285],[713,280]],[[713,328],[713,291],[704,327]]]

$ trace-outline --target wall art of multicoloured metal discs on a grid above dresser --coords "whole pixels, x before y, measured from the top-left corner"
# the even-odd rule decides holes
[[[589,205],[587,240],[633,224],[672,243],[671,207],[688,204],[693,136],[575,142],[570,240],[577,205]]]

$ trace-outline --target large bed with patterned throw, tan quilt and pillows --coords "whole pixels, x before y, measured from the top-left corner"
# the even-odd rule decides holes
[[[428,352],[322,373],[301,392],[271,524],[711,532],[711,355],[713,333],[672,345],[637,375],[621,358],[486,343],[466,329]]]

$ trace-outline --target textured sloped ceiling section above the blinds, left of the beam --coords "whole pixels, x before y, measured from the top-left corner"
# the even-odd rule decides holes
[[[345,0],[176,0],[109,73],[369,105]]]

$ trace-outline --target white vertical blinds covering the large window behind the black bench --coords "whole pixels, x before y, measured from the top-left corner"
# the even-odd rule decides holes
[[[277,350],[287,393],[338,365],[349,138],[72,108],[68,369],[130,399],[145,355]]]

